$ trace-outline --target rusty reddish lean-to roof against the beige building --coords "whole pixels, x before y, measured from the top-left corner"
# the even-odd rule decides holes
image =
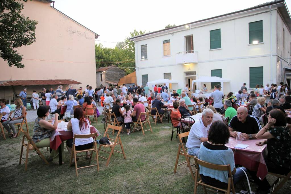
[[[81,84],[74,80],[6,80],[0,81],[0,86],[35,86],[35,85],[68,85]]]

